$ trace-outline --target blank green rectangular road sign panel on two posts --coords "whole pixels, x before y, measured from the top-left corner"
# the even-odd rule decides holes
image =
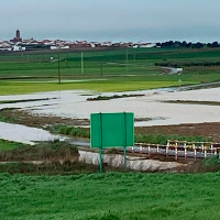
[[[90,134],[91,147],[133,146],[134,114],[130,112],[91,113]]]

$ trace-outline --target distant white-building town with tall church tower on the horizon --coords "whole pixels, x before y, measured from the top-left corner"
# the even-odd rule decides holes
[[[132,43],[132,42],[87,42],[87,41],[63,41],[63,40],[42,40],[34,38],[22,40],[20,30],[15,31],[15,36],[9,41],[0,41],[1,52],[22,52],[38,50],[74,50],[74,48],[114,48],[114,47],[154,47],[152,43]]]

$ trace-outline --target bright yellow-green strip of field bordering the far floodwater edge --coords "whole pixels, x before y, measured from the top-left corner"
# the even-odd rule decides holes
[[[187,84],[191,84],[187,81]],[[55,91],[55,90],[91,90],[91,91],[128,91],[143,90],[153,88],[163,88],[178,86],[178,81],[143,81],[131,79],[107,80],[107,81],[90,81],[90,82],[18,82],[3,81],[0,82],[0,95],[18,95],[30,94],[37,91]]]

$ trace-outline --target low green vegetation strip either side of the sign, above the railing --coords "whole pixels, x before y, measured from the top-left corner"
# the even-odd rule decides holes
[[[89,129],[77,128],[77,127],[67,127],[64,124],[56,124],[50,128],[50,131],[53,133],[65,134],[70,136],[79,138],[90,138]],[[188,142],[206,142],[207,139],[202,136],[183,136],[177,134],[160,134],[160,133],[150,133],[150,134],[134,134],[134,141],[136,143],[151,143],[151,144],[166,144],[167,140],[178,140],[178,141],[188,141]]]

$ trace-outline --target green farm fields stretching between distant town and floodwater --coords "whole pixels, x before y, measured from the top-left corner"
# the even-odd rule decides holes
[[[53,61],[51,59],[53,57]],[[0,54],[0,95],[84,89],[127,91],[220,80],[220,66],[184,66],[182,76],[163,75],[160,62],[218,62],[219,48],[128,48],[81,53],[57,52]],[[88,81],[89,79],[89,81]],[[85,80],[85,81],[69,81]]]

